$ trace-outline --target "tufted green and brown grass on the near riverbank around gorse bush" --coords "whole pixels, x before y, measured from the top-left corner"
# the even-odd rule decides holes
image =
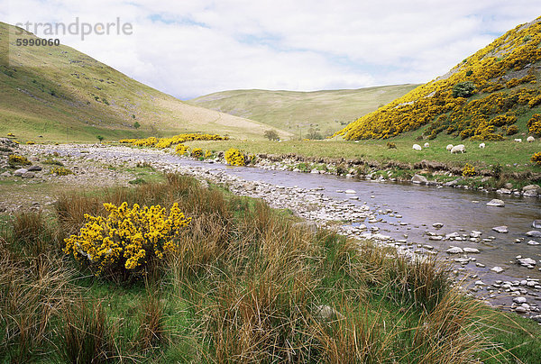
[[[37,362],[538,362],[535,323],[463,296],[436,259],[294,227],[191,177],[59,196],[0,238],[0,357]],[[178,203],[177,253],[141,281],[62,252],[84,214]],[[32,343],[32,345],[30,345]]]

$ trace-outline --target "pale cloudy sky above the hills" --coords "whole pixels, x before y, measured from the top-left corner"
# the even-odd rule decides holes
[[[423,83],[539,15],[538,0],[0,0],[5,23],[130,23],[55,38],[181,99]]]

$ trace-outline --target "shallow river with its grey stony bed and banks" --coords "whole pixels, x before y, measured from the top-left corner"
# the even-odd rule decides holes
[[[196,162],[164,150],[105,147],[99,144],[22,146],[20,152],[38,166],[44,156],[57,153],[58,159],[74,171],[74,175],[61,177],[66,178],[62,179],[62,183],[93,187],[127,185],[135,176],[125,170],[148,164],[159,171],[178,172],[197,177],[201,181],[227,186],[238,195],[264,199],[272,207],[288,208],[307,221],[354,239],[370,239],[391,245],[410,256],[438,254],[442,260],[453,265],[457,281],[471,294],[486,299],[492,305],[514,310],[541,322],[541,316],[538,315],[541,272],[537,268],[541,255],[535,250],[541,242],[538,236],[541,232],[537,234],[541,223],[535,222],[536,219],[530,219],[529,229],[526,230],[525,226],[525,231],[519,234],[513,233],[517,226],[524,224],[524,219],[520,220],[519,225],[508,223],[508,227],[493,223],[490,227],[477,229],[472,224],[459,223],[460,216],[447,216],[444,221],[447,213],[442,206],[436,209],[426,206],[425,209],[413,211],[408,211],[406,206],[401,211],[399,204],[393,204],[393,199],[381,192],[387,188],[385,193],[389,195],[394,188],[399,191],[399,195],[403,195],[414,189],[413,192],[417,193],[414,198],[425,198],[428,194],[434,194],[436,188],[433,187],[390,186],[377,182],[355,185],[352,179],[316,176],[319,173],[300,177],[302,175],[299,173],[280,171],[280,166],[277,167],[274,162],[261,163],[267,170],[230,168],[220,164],[220,159]],[[42,167],[42,171],[36,171],[33,178],[25,180],[32,180],[32,183],[60,180],[57,176],[47,174],[46,166]],[[2,178],[20,178],[23,183],[23,177],[14,177],[9,173],[10,176]],[[298,183],[298,186],[292,183]],[[502,214],[502,211],[509,214],[510,210],[506,209],[517,211],[520,208],[512,206],[515,202],[509,200],[506,207],[499,207],[498,201],[493,202],[484,195],[472,194],[467,197],[472,198],[468,201],[471,205],[467,212],[472,214],[472,218],[473,214],[483,213],[484,220],[488,220],[487,216]],[[436,197],[426,197],[428,201],[431,198]],[[490,203],[496,205],[487,206]],[[504,201],[501,203],[506,205]],[[527,205],[527,202],[524,204]],[[533,207],[534,211],[536,207]],[[531,209],[531,206],[528,208]],[[439,210],[442,214],[438,215]],[[436,220],[438,218],[442,221]],[[502,219],[496,219],[495,222],[505,222],[505,214]],[[527,236],[527,233],[531,236]],[[501,238],[511,235],[514,237],[512,241]],[[509,255],[514,251],[518,254]]]

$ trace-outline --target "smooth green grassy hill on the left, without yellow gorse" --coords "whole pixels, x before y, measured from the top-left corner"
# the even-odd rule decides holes
[[[180,132],[258,139],[268,127],[188,105],[66,46],[15,46],[15,27],[0,23],[0,136],[20,140],[96,141]],[[11,33],[11,34],[10,34]],[[136,130],[133,124],[141,127]],[[286,136],[287,132],[282,132]]]

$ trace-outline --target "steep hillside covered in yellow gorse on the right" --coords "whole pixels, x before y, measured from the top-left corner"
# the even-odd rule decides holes
[[[443,132],[498,141],[535,133],[528,121],[541,112],[540,20],[518,25],[444,76],[362,116],[340,134],[353,140],[390,138],[424,127],[426,139]]]

